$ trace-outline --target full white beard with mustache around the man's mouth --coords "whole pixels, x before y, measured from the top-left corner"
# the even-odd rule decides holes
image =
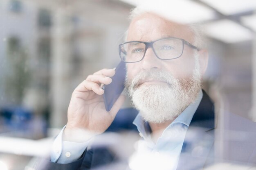
[[[167,84],[140,85],[148,79],[164,81]],[[191,78],[176,79],[168,72],[140,72],[132,81],[126,78],[126,91],[132,105],[140,111],[145,121],[163,123],[174,120],[189,104],[195,101],[201,89],[199,61]]]

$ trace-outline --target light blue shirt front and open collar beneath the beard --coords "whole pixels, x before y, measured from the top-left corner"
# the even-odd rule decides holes
[[[138,114],[133,121],[133,124],[137,126],[139,135],[143,140],[138,143],[135,161],[141,162],[143,159],[139,160],[140,158],[145,157],[145,155],[151,155],[152,157],[149,157],[148,159],[157,161],[159,158],[158,162],[156,162],[158,165],[166,165],[168,170],[175,170],[177,168],[186,131],[201,100],[202,90],[198,93],[196,100],[186,107],[186,109],[175,120],[173,120],[166,129],[164,129],[161,137],[157,139],[156,143],[151,139],[148,122],[145,122],[141,115]],[[134,164],[136,165],[139,163]],[[135,169],[138,168],[135,167]]]

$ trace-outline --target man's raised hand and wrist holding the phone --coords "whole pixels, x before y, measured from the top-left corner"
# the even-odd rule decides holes
[[[64,130],[64,140],[85,142],[93,134],[106,131],[113,122],[125,96],[121,95],[110,111],[106,111],[100,85],[112,82],[115,70],[103,69],[89,75],[79,84],[70,100],[67,111],[67,126]],[[91,132],[90,135],[88,132]]]

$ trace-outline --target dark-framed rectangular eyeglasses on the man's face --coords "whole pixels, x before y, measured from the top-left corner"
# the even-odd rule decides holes
[[[119,56],[126,63],[135,63],[141,61],[149,47],[153,49],[155,56],[162,60],[177,59],[182,56],[184,44],[199,50],[188,41],[181,38],[163,38],[155,41],[129,41],[119,45]]]

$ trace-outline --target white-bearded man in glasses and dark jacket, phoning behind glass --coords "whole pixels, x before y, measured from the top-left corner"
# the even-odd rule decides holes
[[[212,161],[214,107],[201,89],[208,63],[207,50],[201,46],[193,26],[135,10],[126,43],[119,48],[127,66],[126,91],[139,110],[134,124],[144,139],[137,155],[157,153],[158,158],[167,158],[163,169],[201,169]],[[67,125],[54,142],[52,163],[44,168],[89,169],[99,160],[108,163],[108,155],[87,146],[95,133],[108,129],[125,100],[121,95],[109,112],[105,110],[100,86],[110,84],[114,74],[113,69],[100,70],[76,87]],[[150,165],[139,156],[134,161]]]

